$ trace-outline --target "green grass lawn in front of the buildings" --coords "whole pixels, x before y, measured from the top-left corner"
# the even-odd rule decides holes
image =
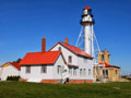
[[[60,85],[0,82],[0,98],[131,98],[131,83]]]

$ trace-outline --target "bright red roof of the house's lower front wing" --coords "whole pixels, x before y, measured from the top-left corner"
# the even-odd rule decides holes
[[[20,64],[21,65],[53,64],[59,54],[60,51],[31,52],[31,53],[26,53],[26,56],[23,58]]]

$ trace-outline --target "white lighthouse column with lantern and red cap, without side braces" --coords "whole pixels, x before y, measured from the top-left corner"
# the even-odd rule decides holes
[[[93,45],[93,25],[94,25],[92,9],[86,5],[83,9],[82,20],[80,24],[84,27],[84,51],[91,56],[94,52],[94,45]]]

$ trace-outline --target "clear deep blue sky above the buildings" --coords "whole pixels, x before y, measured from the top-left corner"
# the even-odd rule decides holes
[[[69,38],[75,45],[85,5],[93,10],[100,49],[110,52],[110,64],[131,72],[131,0],[0,0],[0,65],[27,52],[46,50]]]

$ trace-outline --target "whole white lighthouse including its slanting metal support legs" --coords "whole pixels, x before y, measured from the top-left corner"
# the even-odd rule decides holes
[[[97,74],[95,81],[97,78],[100,82],[106,82],[103,78],[103,74],[99,70],[99,64],[97,61],[97,52],[100,52],[100,48],[93,29],[93,25],[95,24],[95,22],[93,19],[92,9],[88,5],[86,5],[83,9],[82,20],[80,21],[80,24],[82,25],[82,28],[75,46],[81,47],[86,53],[91,54],[94,58],[93,59],[93,68],[95,66],[94,74]],[[103,59],[102,54],[99,57]],[[105,70],[105,63],[103,66],[100,66],[100,69],[102,68]]]

